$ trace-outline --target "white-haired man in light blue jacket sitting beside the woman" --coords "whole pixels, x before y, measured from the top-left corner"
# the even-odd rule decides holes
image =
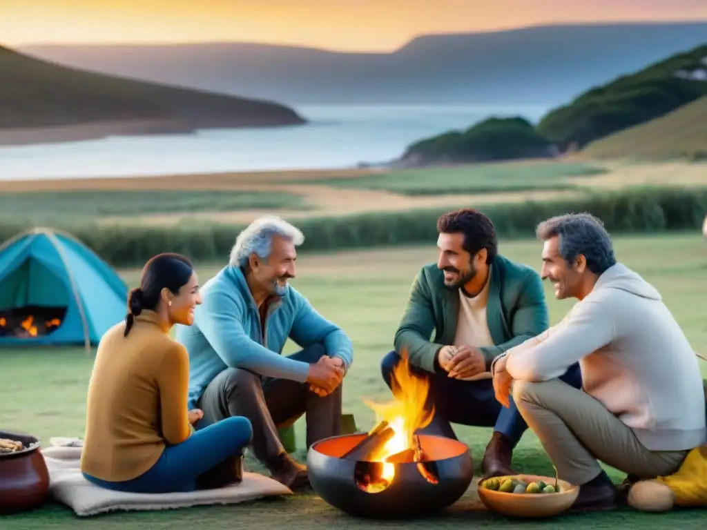
[[[272,477],[308,486],[305,466],[285,451],[278,430],[305,414],[307,447],[341,430],[341,382],[353,361],[351,340],[288,280],[295,277],[302,232],[264,216],[235,240],[230,261],[201,292],[194,325],[178,326],[189,352],[189,408],[201,429],[245,416],[251,449]],[[303,350],[281,355],[288,338]]]

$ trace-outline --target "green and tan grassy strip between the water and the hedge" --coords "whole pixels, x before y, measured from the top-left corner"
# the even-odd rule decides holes
[[[306,184],[305,184],[306,182]],[[243,224],[276,211],[284,218],[460,208],[572,199],[634,186],[705,184],[698,163],[626,163],[581,155],[567,160],[430,167],[0,181],[0,221],[99,225]],[[166,191],[170,190],[170,191]],[[425,193],[425,194],[422,194]]]

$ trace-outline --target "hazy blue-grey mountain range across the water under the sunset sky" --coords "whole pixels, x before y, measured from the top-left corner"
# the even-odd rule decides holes
[[[700,45],[707,22],[426,35],[392,53],[245,43],[35,45],[24,52],[148,81],[293,104],[560,105]]]

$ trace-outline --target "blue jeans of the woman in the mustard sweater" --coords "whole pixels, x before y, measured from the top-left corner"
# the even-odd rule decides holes
[[[86,480],[109,490],[128,493],[175,493],[197,490],[199,476],[213,471],[231,457],[243,455],[252,428],[243,417],[221,420],[192,432],[184,442],[165,447],[160,459],[137,478],[108,482],[86,473]]]

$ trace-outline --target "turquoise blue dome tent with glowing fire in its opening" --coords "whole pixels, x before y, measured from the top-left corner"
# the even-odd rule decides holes
[[[0,247],[0,346],[90,348],[120,322],[127,285],[63,232],[35,228]]]

